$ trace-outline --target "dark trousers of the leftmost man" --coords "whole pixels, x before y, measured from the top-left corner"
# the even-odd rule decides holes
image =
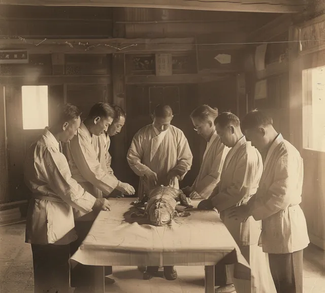
[[[35,293],[69,292],[70,245],[31,244]]]

